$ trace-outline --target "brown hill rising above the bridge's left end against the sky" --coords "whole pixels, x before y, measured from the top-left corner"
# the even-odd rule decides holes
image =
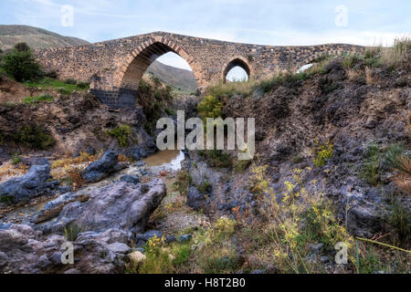
[[[71,36],[60,36],[43,28],[33,26],[0,26],[0,49],[14,47],[25,42],[32,48],[70,47],[89,44],[88,41]]]

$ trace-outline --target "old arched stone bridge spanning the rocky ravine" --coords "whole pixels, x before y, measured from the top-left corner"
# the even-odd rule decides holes
[[[364,47],[328,44],[278,47],[240,44],[194,36],[155,32],[76,47],[36,50],[46,70],[58,78],[90,82],[90,93],[120,108],[135,103],[145,70],[168,52],[183,57],[193,69],[198,87],[225,81],[231,68],[241,67],[248,78],[260,79],[287,68],[300,68],[322,55],[360,52]]]

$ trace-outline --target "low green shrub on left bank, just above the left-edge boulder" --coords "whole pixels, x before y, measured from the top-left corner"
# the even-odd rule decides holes
[[[56,143],[54,138],[42,127],[28,124],[23,125],[19,130],[17,130],[17,132],[13,135],[13,138],[16,143],[36,150],[47,149]]]

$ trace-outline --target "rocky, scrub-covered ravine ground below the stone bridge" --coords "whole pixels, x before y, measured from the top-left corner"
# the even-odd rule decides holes
[[[0,271],[409,273],[410,63],[371,73],[364,59],[344,64],[250,90],[219,85],[211,99],[163,101],[155,114],[150,92],[133,110],[77,93],[34,111],[0,107],[10,138],[0,151]],[[204,118],[197,105],[213,99],[206,106],[223,117],[256,118],[252,161],[155,153],[153,117]],[[29,120],[55,144],[16,155],[11,133]],[[61,261],[65,243],[73,265]]]

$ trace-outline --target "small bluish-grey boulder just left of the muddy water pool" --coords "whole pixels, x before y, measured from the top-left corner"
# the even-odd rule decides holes
[[[125,163],[119,163],[119,152],[106,151],[97,162],[92,162],[81,172],[86,183],[97,183],[108,177],[113,172],[121,171],[126,167]]]

